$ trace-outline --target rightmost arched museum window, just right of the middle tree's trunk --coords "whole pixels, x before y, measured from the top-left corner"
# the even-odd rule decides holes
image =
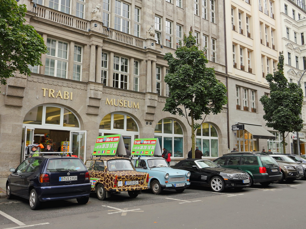
[[[202,149],[203,157],[218,157],[218,133],[213,125],[204,122],[197,129],[196,146]]]

